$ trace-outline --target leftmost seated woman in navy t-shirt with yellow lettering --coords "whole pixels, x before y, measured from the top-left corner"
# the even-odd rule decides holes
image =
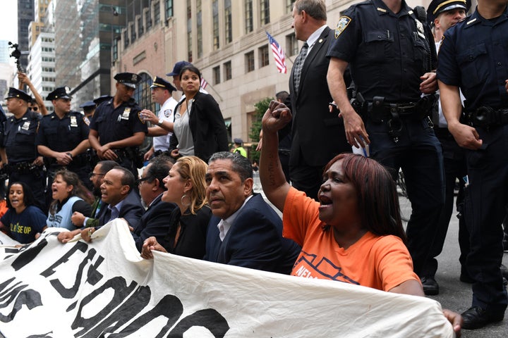
[[[35,206],[28,184],[13,182],[8,187],[8,211],[0,218],[0,230],[21,244],[35,241],[35,235],[46,227],[47,216]]]

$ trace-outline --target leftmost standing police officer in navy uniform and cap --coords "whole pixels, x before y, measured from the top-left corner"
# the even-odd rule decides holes
[[[5,149],[8,163],[9,182],[25,182],[35,197],[38,207],[47,211],[44,203],[46,173],[42,156],[37,153],[35,136],[42,116],[28,109],[30,95],[23,90],[9,88],[6,97],[7,109],[13,116],[5,123],[2,147]]]

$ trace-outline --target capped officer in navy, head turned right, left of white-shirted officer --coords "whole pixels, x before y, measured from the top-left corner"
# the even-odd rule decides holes
[[[118,73],[114,79],[116,93],[95,109],[88,139],[100,160],[116,161],[138,177],[137,167],[143,165],[143,160],[136,161],[138,146],[145,140],[147,125],[132,96],[141,79],[133,73]]]

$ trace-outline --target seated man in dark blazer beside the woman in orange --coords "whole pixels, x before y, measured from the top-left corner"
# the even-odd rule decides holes
[[[205,261],[291,273],[300,247],[282,237],[282,220],[253,194],[248,158],[227,151],[210,158],[205,177],[212,208]]]

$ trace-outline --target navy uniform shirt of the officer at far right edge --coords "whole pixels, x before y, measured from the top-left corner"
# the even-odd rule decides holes
[[[450,27],[440,46],[437,78],[460,87],[471,111],[480,106],[508,108],[508,7],[486,20],[473,15]]]

